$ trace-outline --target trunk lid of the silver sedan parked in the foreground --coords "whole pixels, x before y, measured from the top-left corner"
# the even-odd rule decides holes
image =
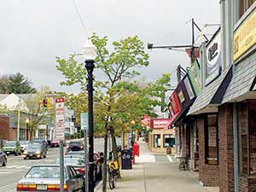
[[[66,183],[67,178],[64,178],[64,183]],[[60,184],[60,178],[22,178],[19,183],[21,184]]]

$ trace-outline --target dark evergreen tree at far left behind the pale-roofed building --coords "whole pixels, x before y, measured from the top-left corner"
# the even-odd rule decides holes
[[[15,73],[10,76],[3,76],[0,79],[0,92],[5,94],[29,94],[35,93],[36,89],[32,87],[32,83],[23,74]]]

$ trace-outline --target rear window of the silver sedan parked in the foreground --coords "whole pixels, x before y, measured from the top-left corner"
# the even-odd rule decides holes
[[[59,166],[32,166],[26,173],[27,178],[60,178]],[[67,177],[64,169],[64,177]]]

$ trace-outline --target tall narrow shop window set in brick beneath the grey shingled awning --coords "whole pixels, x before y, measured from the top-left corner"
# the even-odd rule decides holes
[[[206,163],[218,164],[218,114],[207,114],[205,119]]]

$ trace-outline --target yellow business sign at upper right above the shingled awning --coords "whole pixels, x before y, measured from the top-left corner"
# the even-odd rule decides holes
[[[247,16],[247,19],[241,23],[234,33],[234,55],[236,61],[248,49],[256,44],[256,9]]]

